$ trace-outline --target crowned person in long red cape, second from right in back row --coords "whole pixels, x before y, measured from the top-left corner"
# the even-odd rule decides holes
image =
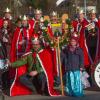
[[[88,25],[88,21],[84,18],[84,12],[83,10],[79,11],[79,18],[78,20],[72,21],[72,26],[74,28],[74,32],[78,33],[79,38],[79,45],[83,49],[84,53],[84,65],[85,68],[89,67],[90,59],[88,55],[88,50],[86,48],[86,42],[85,42],[85,26]]]

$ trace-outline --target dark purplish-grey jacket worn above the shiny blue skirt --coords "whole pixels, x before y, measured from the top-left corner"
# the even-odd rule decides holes
[[[74,52],[71,52],[67,46],[61,52],[61,60],[65,66],[65,71],[76,71],[84,67],[84,56],[80,47],[77,47]]]

